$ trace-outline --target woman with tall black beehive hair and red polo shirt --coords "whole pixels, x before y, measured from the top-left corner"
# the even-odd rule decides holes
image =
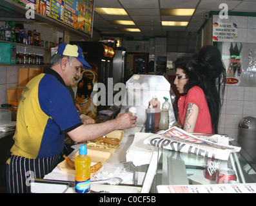
[[[174,84],[181,98],[179,121],[173,126],[193,133],[218,133],[226,77],[221,53],[214,46],[204,46],[193,57],[177,59],[174,66]]]

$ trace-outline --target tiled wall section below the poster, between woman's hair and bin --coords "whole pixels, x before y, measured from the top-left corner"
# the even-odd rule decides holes
[[[219,121],[219,133],[237,139],[243,117],[256,118],[256,89],[250,86],[226,86]]]

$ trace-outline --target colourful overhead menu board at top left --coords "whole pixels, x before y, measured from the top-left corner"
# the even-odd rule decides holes
[[[12,0],[92,37],[94,0]]]

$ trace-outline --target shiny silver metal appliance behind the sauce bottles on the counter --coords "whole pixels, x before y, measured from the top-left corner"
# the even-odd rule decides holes
[[[162,75],[133,75],[126,82],[126,94],[122,102],[121,112],[126,112],[131,106],[135,106],[137,108],[137,126],[143,127],[146,122],[148,102],[155,95],[161,103],[161,108],[164,97],[167,97],[171,103],[169,110],[169,125],[171,126],[176,121],[172,102],[175,94],[168,80]]]

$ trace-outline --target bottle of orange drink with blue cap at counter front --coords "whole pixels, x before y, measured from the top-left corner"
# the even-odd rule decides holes
[[[75,158],[75,192],[77,193],[90,192],[91,162],[91,158],[87,156],[86,145],[81,145],[79,148],[79,155]]]

